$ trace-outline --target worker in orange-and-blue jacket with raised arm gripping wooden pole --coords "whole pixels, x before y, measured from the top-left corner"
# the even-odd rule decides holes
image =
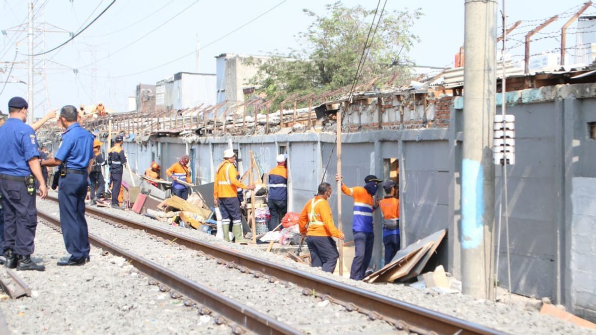
[[[336,175],[336,181],[342,180]],[[354,198],[354,219],[352,232],[354,234],[354,259],[350,268],[350,279],[362,280],[373,258],[374,230],[373,212],[374,195],[377,194],[378,183],[383,179],[370,175],[364,178],[364,186],[347,187],[342,183],[342,192]]]

